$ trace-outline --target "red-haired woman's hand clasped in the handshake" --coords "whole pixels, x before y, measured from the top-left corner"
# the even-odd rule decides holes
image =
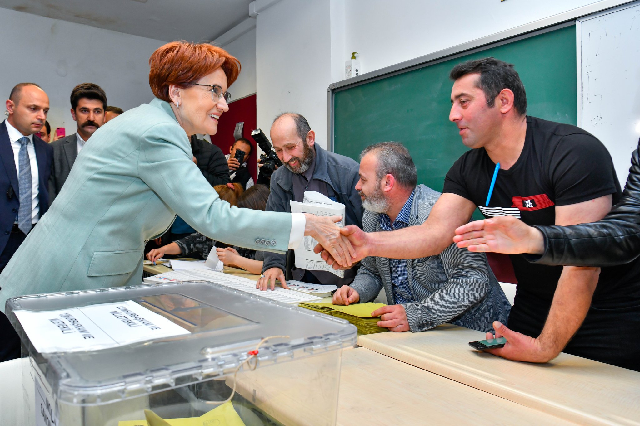
[[[318,217],[309,213],[305,213],[305,218],[305,235],[312,236],[318,242],[316,253],[320,252],[320,247],[324,248],[339,266],[351,268],[356,252],[351,247],[349,239],[342,233],[341,229],[344,228],[335,225],[335,222],[340,222],[342,218]],[[337,269],[337,266],[334,268]]]

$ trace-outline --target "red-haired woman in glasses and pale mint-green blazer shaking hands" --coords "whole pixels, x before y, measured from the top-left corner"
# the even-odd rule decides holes
[[[257,250],[284,253],[310,235],[351,264],[335,220],[231,207],[193,163],[189,136],[218,130],[227,87],[240,72],[235,57],[205,43],[173,42],[149,65],[156,98],[92,135],[0,275],[0,306],[22,294],[140,284],[145,242],[176,214],[214,240]]]

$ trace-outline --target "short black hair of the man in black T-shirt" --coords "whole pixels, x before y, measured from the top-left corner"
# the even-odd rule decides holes
[[[516,112],[521,116],[527,113],[527,93],[513,64],[495,57],[473,59],[454,66],[449,78],[455,81],[467,74],[480,74],[477,87],[484,92],[488,107],[493,107],[495,98],[502,89],[509,89],[513,92],[513,107]]]

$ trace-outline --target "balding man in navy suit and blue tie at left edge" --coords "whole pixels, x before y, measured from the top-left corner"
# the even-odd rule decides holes
[[[13,87],[6,101],[8,117],[0,123],[0,272],[49,208],[47,182],[53,149],[34,133],[49,112],[49,97],[34,83]],[[0,285],[3,285],[0,282]],[[18,358],[18,335],[0,315],[0,362]]]

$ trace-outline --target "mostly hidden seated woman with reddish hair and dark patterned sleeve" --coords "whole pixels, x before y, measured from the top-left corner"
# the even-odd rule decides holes
[[[243,192],[243,188],[239,183],[228,183],[227,185],[216,185],[213,187],[222,201],[227,201],[231,206],[237,205],[237,199]],[[165,254],[182,255],[188,257],[195,254],[193,257],[202,257],[207,259],[209,252],[216,245],[216,241],[200,234],[200,232],[193,232],[180,240],[173,241],[167,245],[163,245],[160,248],[154,248],[147,253],[147,259],[152,262],[157,261]]]

